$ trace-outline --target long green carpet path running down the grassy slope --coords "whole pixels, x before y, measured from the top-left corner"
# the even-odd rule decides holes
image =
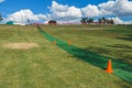
[[[46,33],[42,28],[37,26],[38,31],[42,35],[48,40],[50,42],[55,41],[56,45],[59,46],[62,50],[66,51],[67,53],[78,57],[78,59],[82,59],[91,65],[98,66],[103,70],[107,67],[107,62],[110,57],[98,55],[96,53],[79,48],[74,45],[68,45],[67,42],[58,40],[48,33]],[[132,65],[128,63],[123,63],[119,59],[111,58],[112,61],[112,68],[113,75],[120,77],[121,79],[132,82]]]

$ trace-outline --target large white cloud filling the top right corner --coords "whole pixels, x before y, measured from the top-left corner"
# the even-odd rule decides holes
[[[98,6],[103,11],[109,11],[111,14],[119,16],[132,15],[132,1],[129,0],[113,0],[100,3]]]

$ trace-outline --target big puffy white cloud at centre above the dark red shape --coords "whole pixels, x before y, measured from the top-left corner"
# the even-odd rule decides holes
[[[53,1],[52,6],[50,7],[51,14],[48,14],[50,19],[55,20],[72,20],[81,18],[81,10],[76,7],[68,7],[64,4],[59,4],[56,1]]]

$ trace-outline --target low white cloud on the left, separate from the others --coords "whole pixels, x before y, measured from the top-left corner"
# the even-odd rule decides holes
[[[40,21],[45,20],[46,15],[44,14],[34,14],[31,10],[20,10],[18,12],[14,12],[12,14],[9,14],[8,18],[4,20],[4,22],[8,21],[14,21],[16,24],[25,24],[28,23],[28,20],[30,21]]]

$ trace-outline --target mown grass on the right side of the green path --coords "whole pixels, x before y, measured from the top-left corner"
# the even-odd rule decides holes
[[[64,25],[62,28],[53,25],[53,28],[43,29],[86,51],[132,64],[132,25]]]

